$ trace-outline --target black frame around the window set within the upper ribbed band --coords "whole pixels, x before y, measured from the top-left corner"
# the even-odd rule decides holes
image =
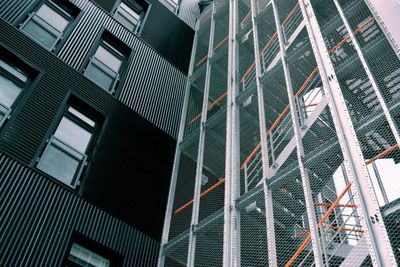
[[[113,49],[117,50],[119,53],[124,55],[124,59],[121,62],[121,67],[118,71],[118,81],[115,82],[111,92],[109,90],[103,88],[102,86],[98,85],[91,78],[89,78],[88,76],[85,75],[87,67],[89,66],[89,64],[91,64],[92,58],[96,54],[97,49],[99,48],[99,46],[102,44],[103,41],[106,41],[108,43],[108,45],[113,47]],[[88,79],[94,85],[99,87],[102,91],[106,92],[107,94],[109,94],[113,97],[118,98],[121,93],[120,88],[124,84],[124,81],[126,79],[128,66],[130,65],[130,63],[132,61],[133,55],[134,55],[134,51],[131,47],[129,47],[127,44],[125,44],[123,41],[121,41],[118,37],[116,37],[110,31],[103,28],[97,35],[95,41],[93,42],[85,61],[83,62],[81,68],[79,69],[79,72],[82,73],[82,75],[84,77],[86,77],[86,79]]]

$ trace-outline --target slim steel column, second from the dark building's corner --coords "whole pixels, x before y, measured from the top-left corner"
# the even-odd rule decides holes
[[[214,31],[215,31],[215,2],[212,4],[211,13],[211,25],[210,25],[210,37],[208,41],[208,55],[206,62],[206,76],[204,82],[204,94],[203,94],[203,106],[200,119],[200,130],[199,130],[199,147],[197,151],[197,165],[196,165],[196,179],[194,186],[193,196],[193,208],[192,208],[192,222],[189,230],[189,248],[186,266],[194,266],[194,259],[196,254],[196,226],[199,222],[199,209],[200,209],[200,191],[201,191],[201,179],[203,176],[203,159],[204,159],[204,145],[206,139],[205,123],[207,121],[208,111],[208,95],[210,92],[210,80],[211,80],[211,65],[212,57],[214,54]]]

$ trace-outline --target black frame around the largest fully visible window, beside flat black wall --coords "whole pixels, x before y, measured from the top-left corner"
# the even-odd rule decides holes
[[[94,127],[89,127],[86,123],[79,119],[76,115],[72,114],[68,111],[69,107],[73,107],[78,112],[82,113],[82,115],[88,117],[89,119],[95,122]],[[79,175],[73,178],[73,185],[68,185],[62,182],[57,177],[52,176],[51,174],[46,173],[45,171],[39,169],[37,166],[39,164],[40,158],[45,153],[47,147],[50,145],[50,140],[54,137],[62,119],[66,117],[67,119],[71,120],[73,123],[76,123],[79,127],[84,130],[89,130],[91,132],[91,137],[88,146],[85,150],[85,162],[83,163],[82,170],[80,171]],[[98,146],[99,140],[102,137],[104,132],[104,126],[106,124],[106,117],[104,114],[100,113],[98,110],[90,106],[89,104],[85,103],[79,97],[72,93],[68,93],[66,98],[64,99],[63,103],[60,105],[60,108],[51,123],[47,134],[45,135],[42,144],[39,146],[37,153],[35,155],[34,160],[32,161],[31,166],[36,169],[36,171],[40,172],[41,174],[45,175],[46,177],[51,178],[52,181],[56,182],[59,185],[62,185],[64,188],[70,189],[73,192],[81,193],[83,189],[83,185],[85,184],[85,180],[87,178],[87,173],[90,168],[90,164],[93,161],[93,158],[96,155],[96,147]],[[63,141],[61,141],[63,142]]]

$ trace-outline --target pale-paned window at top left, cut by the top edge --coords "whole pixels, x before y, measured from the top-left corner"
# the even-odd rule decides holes
[[[71,25],[75,11],[76,8],[71,9],[61,2],[45,1],[39,9],[29,14],[21,29],[48,50],[53,51]]]

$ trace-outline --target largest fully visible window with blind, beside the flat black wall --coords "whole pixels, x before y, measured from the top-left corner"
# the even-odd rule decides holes
[[[37,168],[75,188],[92,151],[99,124],[80,105],[67,105]]]

